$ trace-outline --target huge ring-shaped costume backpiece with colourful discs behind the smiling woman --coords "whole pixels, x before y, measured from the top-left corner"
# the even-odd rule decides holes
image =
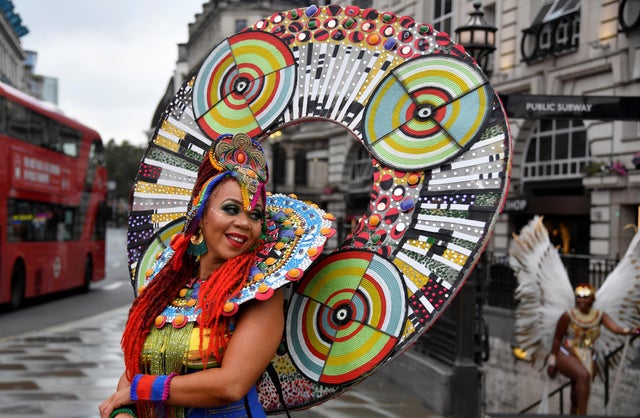
[[[504,109],[446,33],[355,6],[275,13],[217,45],[167,107],[134,186],[132,272],[184,215],[213,138],[318,119],[372,155],[371,201],[336,251],[305,251],[315,262],[297,270],[309,267],[258,384],[271,413],[330,399],[408,349],[471,273],[508,188]]]

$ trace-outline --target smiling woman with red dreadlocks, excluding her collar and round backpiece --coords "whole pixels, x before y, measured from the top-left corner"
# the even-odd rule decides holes
[[[257,142],[244,134],[214,141],[183,233],[130,309],[126,371],[100,405],[102,418],[264,416],[255,383],[282,337],[282,290],[239,308],[228,300],[247,284],[261,247],[267,180]]]

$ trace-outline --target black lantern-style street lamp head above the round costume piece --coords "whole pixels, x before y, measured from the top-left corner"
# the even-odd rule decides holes
[[[475,11],[469,13],[466,25],[456,29],[457,43],[475,58],[485,74],[490,75],[489,57],[496,50],[496,31],[498,28],[490,26],[484,20],[484,12],[480,10],[480,1],[474,1]]]

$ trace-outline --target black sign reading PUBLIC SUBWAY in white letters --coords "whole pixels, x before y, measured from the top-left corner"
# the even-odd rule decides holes
[[[640,120],[637,96],[499,95],[514,119]]]

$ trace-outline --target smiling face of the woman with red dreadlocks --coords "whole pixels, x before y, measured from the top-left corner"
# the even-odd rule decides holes
[[[245,211],[238,182],[224,180],[211,193],[202,216],[207,253],[201,257],[201,263],[222,264],[247,252],[260,236],[263,219],[263,205],[258,203]]]

